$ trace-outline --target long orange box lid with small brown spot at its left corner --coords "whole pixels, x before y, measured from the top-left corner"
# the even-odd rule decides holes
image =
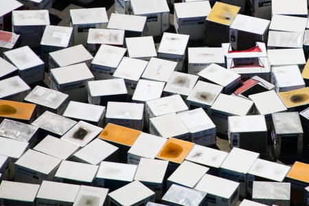
[[[99,135],[99,138],[106,141],[113,141],[117,144],[132,146],[140,134],[141,131],[139,130],[108,123]]]

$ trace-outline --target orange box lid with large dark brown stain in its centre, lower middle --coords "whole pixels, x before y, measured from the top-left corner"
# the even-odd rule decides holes
[[[157,158],[182,163],[193,148],[194,143],[182,139],[170,138],[161,148]]]

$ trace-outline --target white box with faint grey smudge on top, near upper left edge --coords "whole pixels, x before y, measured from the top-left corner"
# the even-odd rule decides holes
[[[19,76],[27,83],[44,80],[44,62],[28,46],[4,52],[3,58],[19,69]]]

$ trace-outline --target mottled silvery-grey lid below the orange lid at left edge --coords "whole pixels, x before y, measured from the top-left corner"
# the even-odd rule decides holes
[[[0,124],[0,136],[15,139],[18,141],[31,141],[38,131],[38,126],[25,124],[11,119],[3,119]]]

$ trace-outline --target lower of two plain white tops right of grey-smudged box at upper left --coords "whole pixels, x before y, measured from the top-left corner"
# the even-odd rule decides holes
[[[50,69],[50,75],[54,76],[54,79],[57,81],[55,83],[59,85],[94,78],[85,63]]]

